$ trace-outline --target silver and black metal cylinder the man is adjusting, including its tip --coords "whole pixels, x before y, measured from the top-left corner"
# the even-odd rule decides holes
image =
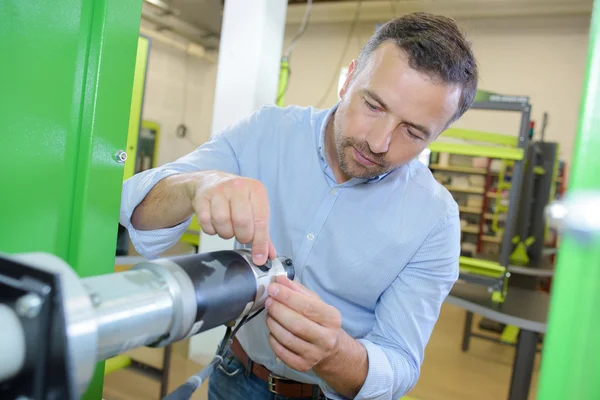
[[[244,250],[145,261],[127,272],[82,280],[89,294],[101,361],[141,346],[164,346],[235,321],[264,305],[291,261],[252,263]]]

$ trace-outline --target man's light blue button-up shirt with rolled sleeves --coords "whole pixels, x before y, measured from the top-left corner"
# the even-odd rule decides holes
[[[343,329],[367,350],[369,372],[356,399],[398,400],[417,382],[440,307],[458,278],[458,206],[416,159],[375,179],[337,184],[323,148],[335,108],[264,106],[191,154],[135,175],[124,184],[121,224],[136,249],[154,258],[190,222],[155,231],[131,226],[133,209],[159,180],[198,170],[260,180],[277,253],[293,260],[296,280],[335,306]],[[238,333],[254,362],[343,399],[312,371],[276,359],[264,314]]]

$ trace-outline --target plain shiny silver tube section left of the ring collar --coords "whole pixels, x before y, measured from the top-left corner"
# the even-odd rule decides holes
[[[85,278],[83,285],[94,307],[97,361],[154,343],[169,332],[174,301],[159,274],[132,270]]]

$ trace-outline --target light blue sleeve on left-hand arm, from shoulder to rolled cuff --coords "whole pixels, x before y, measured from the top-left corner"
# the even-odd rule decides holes
[[[131,224],[131,215],[138,204],[158,182],[172,175],[208,170],[239,174],[239,153],[243,151],[244,142],[251,140],[251,133],[260,131],[256,124],[261,113],[259,110],[242,119],[178,160],[138,173],[123,183],[119,222],[127,229],[131,242],[142,256],[156,258],[172,247],[185,233],[191,218],[169,228],[138,230]]]

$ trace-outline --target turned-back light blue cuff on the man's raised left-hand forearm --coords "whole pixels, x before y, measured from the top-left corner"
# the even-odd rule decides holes
[[[170,228],[145,231],[133,227],[131,215],[158,182],[179,173],[169,169],[153,169],[136,174],[123,183],[119,223],[129,232],[129,238],[137,252],[149,260],[172,247],[185,233],[192,217]]]

